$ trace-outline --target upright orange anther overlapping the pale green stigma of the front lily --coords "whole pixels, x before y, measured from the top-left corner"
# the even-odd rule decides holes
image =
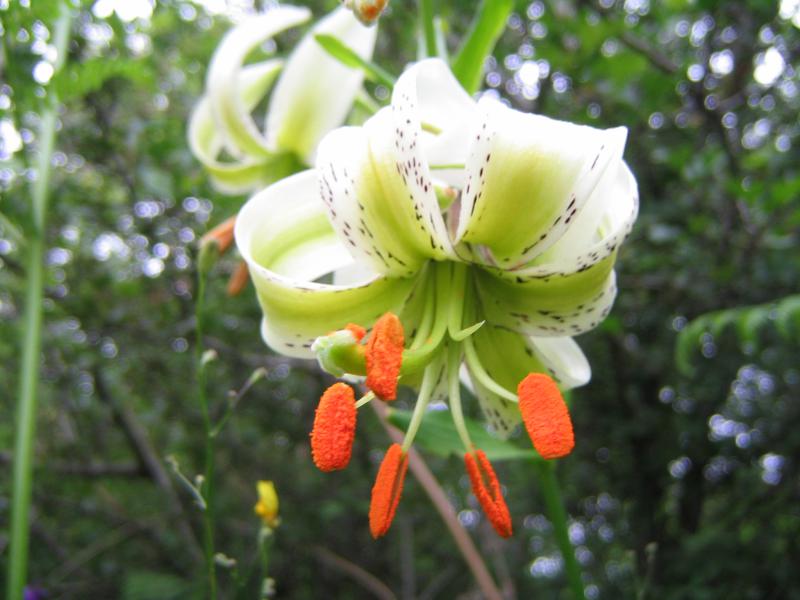
[[[387,312],[375,323],[367,340],[367,387],[382,400],[397,397],[397,379],[403,363],[403,325]]]

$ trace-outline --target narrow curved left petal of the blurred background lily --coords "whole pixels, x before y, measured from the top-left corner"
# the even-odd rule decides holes
[[[309,18],[311,12],[306,8],[272,8],[230,30],[214,53],[206,89],[214,117],[222,125],[226,147],[233,155],[267,156],[274,150],[253,121],[239,90],[238,73],[247,55],[264,41]]]

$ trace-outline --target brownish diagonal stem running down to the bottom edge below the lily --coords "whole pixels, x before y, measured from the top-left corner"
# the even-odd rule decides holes
[[[389,425],[386,420],[386,406],[382,402],[370,402],[370,405],[377,413],[389,437],[398,444],[402,443],[403,434]],[[492,579],[492,575],[489,573],[489,569],[486,567],[486,563],[483,561],[472,538],[469,537],[469,534],[459,522],[456,511],[450,505],[447,494],[444,493],[442,486],[436,481],[428,465],[425,464],[425,461],[414,448],[408,451],[408,468],[425,490],[425,493],[428,494],[433,506],[439,512],[439,516],[442,517],[444,524],[450,530],[450,535],[453,536],[456,546],[458,546],[464,561],[472,571],[472,576],[475,578],[475,582],[480,587],[483,595],[488,600],[502,600],[503,596],[500,594],[497,584]]]

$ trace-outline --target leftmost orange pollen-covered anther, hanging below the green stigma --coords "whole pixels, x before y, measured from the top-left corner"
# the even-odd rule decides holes
[[[320,398],[311,430],[311,455],[320,471],[344,469],[350,462],[356,435],[353,388],[334,383]]]

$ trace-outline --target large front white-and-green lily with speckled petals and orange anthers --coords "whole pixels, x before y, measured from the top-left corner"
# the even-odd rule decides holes
[[[325,393],[316,464],[347,465],[358,407],[391,401],[398,383],[418,390],[405,439],[372,491],[373,536],[389,529],[408,449],[438,397],[476,497],[498,534],[511,535],[497,476],[465,425],[462,375],[496,434],[523,422],[542,458],[571,452],[561,391],[591,374],[572,338],[610,311],[617,252],[638,211],[625,139],[621,127],[475,103],[429,59],[406,70],[391,106],[363,127],[329,133],[316,169],[242,209],[236,243],[265,342],[316,356],[336,376],[366,376],[370,389],[360,400],[343,383]]]

